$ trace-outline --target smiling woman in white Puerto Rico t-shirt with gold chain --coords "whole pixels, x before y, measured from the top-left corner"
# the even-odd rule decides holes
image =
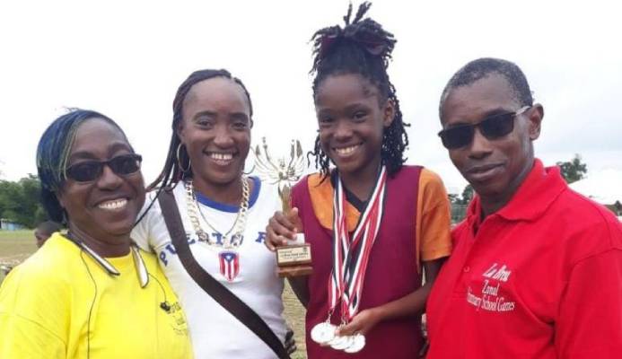
[[[243,83],[225,70],[201,70],[173,101],[171,144],[132,233],[152,250],[187,313],[197,358],[274,358],[257,335],[215,302],[182,267],[162,211],[153,199],[173,187],[190,251],[198,264],[258,313],[285,341],[283,280],[266,250],[265,228],[280,209],[275,186],[243,174],[250,151],[252,104]]]

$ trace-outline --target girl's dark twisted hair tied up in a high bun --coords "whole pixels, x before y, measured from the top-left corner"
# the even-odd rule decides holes
[[[395,107],[395,116],[390,126],[382,134],[381,159],[387,166],[390,175],[394,175],[406,162],[404,151],[408,145],[406,128],[409,126],[402,120],[399,100],[395,86],[389,80],[387,67],[396,39],[389,31],[382,29],[378,22],[370,18],[363,19],[369,10],[370,3],[359,6],[352,17],[352,4],[348,6],[344,16],[346,25],[338,25],[316,31],[311,37],[313,41],[313,97],[317,96],[320,83],[335,74],[359,74],[374,85],[380,93],[381,103],[391,101]],[[320,135],[315,139],[315,146],[308,156],[315,157],[315,166],[326,177],[329,174],[329,156],[322,151]]]

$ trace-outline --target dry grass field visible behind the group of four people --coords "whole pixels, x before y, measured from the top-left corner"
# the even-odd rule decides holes
[[[37,246],[31,230],[0,231],[0,264],[22,261],[35,250]],[[0,283],[3,279],[4,275],[0,272]],[[285,303],[285,319],[293,328],[296,346],[298,346],[298,351],[292,355],[292,359],[304,359],[307,357],[304,346],[304,308],[292,293],[289,285],[285,285],[283,302]]]

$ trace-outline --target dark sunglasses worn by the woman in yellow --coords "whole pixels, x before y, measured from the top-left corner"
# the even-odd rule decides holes
[[[66,177],[76,182],[91,182],[101,177],[104,166],[119,176],[128,176],[140,170],[142,161],[143,157],[136,153],[121,154],[108,161],[84,161],[67,167]]]

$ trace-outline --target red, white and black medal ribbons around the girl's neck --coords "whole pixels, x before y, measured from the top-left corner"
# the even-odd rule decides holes
[[[381,166],[372,196],[350,237],[346,224],[346,193],[341,179],[337,177],[333,197],[333,270],[329,277],[329,313],[335,311],[340,302],[345,322],[355,317],[361,302],[367,263],[380,229],[386,180],[386,168]]]

